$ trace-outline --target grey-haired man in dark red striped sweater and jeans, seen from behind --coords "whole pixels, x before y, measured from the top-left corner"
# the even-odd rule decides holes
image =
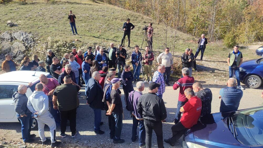
[[[180,121],[181,118],[181,112],[180,108],[185,105],[185,103],[188,101],[184,94],[184,90],[187,88],[193,89],[193,84],[195,82],[194,77],[189,76],[190,70],[189,68],[183,68],[182,69],[182,75],[183,78],[180,78],[177,82],[174,83],[173,89],[176,90],[180,88],[179,90],[179,96],[178,96],[178,103],[177,103],[177,110],[175,113],[175,119],[174,123],[177,124]]]

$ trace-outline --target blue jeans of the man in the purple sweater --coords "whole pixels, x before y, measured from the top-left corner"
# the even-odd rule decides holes
[[[136,135],[137,135],[137,126],[138,123],[139,125],[139,146],[143,146],[145,145],[145,127],[144,127],[144,123],[143,120],[137,120],[135,118],[135,116],[132,117],[133,120],[133,126],[132,126],[132,137],[131,140],[135,140],[136,139]]]

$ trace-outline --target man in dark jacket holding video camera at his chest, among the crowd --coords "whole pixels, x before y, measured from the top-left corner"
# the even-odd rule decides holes
[[[116,50],[116,65],[118,67],[118,78],[120,78],[121,71],[120,71],[120,64],[122,67],[126,64],[125,63],[125,58],[127,56],[126,49],[122,48],[122,45],[118,45],[118,49]],[[117,63],[118,62],[118,63]]]

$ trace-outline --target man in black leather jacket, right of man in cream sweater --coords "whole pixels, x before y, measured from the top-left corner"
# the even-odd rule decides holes
[[[186,48],[185,53],[183,53],[181,60],[182,60],[182,66],[183,68],[188,68],[190,73],[189,76],[192,76],[192,67],[194,66],[193,61],[195,59],[194,54],[192,53],[193,50]],[[182,75],[183,78],[183,75]]]

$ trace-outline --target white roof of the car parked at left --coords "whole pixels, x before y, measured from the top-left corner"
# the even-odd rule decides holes
[[[0,74],[0,82],[23,82],[29,83],[39,80],[39,76],[44,74],[45,76],[50,75],[47,72],[19,70],[8,73]]]

